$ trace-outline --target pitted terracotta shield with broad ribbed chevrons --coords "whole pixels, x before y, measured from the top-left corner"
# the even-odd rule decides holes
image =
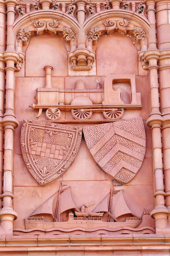
[[[131,180],[144,159],[145,131],[142,118],[83,128],[94,160],[121,183]]]

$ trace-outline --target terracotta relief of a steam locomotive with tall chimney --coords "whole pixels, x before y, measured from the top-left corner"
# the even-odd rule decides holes
[[[51,71],[53,67],[45,66],[46,85],[36,90],[37,104],[30,105],[38,110],[37,118],[46,109],[48,120],[59,120],[61,111],[71,111],[76,120],[92,119],[93,113],[102,113],[104,119],[118,120],[124,109],[140,109],[141,95],[136,92],[135,75],[109,75],[105,77],[104,91],[100,84],[89,89],[83,80],[78,80],[75,89],[59,89],[52,87]]]

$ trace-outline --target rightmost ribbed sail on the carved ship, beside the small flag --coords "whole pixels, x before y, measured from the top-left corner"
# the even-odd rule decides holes
[[[134,213],[132,213],[127,204],[125,203],[125,200],[124,200],[124,197],[123,197],[123,193],[122,193],[123,190],[120,190],[120,191],[115,191],[117,193],[115,193],[113,196],[112,196],[112,199],[111,199],[111,209],[110,209],[110,213],[115,217],[119,217],[123,214],[132,214],[134,215],[135,217],[137,217],[137,215],[135,215]]]

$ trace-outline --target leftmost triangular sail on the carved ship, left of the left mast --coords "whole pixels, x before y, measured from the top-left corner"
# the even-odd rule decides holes
[[[48,200],[45,201],[43,204],[41,204],[29,217],[36,215],[36,214],[44,214],[44,213],[51,214],[54,217],[53,201],[54,201],[55,195],[56,195],[56,193],[53,196],[51,196],[50,198],[48,198]]]

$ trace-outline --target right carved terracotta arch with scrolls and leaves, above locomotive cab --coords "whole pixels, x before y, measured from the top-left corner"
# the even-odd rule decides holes
[[[121,34],[134,36],[135,41],[146,50],[150,31],[149,25],[149,21],[144,16],[132,11],[105,10],[100,14],[94,14],[90,19],[86,19],[84,24],[86,45],[92,49],[92,44],[96,44],[100,36],[119,31]]]

